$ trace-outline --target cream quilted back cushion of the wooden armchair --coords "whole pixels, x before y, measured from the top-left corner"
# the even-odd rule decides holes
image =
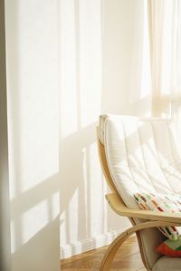
[[[109,116],[103,126],[110,174],[129,208],[138,192],[181,192],[181,159],[170,120]]]

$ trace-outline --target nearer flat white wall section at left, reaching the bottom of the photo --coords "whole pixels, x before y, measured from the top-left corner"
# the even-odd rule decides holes
[[[13,271],[59,262],[56,0],[5,1]]]

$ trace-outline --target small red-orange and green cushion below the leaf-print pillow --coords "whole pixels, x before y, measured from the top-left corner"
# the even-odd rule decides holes
[[[157,247],[157,252],[165,256],[181,256],[181,237],[178,237],[176,241],[167,239]]]

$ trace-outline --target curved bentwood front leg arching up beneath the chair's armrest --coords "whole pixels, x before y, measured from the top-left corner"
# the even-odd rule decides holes
[[[114,256],[118,252],[119,247],[121,247],[121,245],[124,243],[124,241],[128,237],[130,237],[131,235],[136,233],[138,230],[148,228],[148,227],[162,227],[162,226],[168,226],[168,225],[169,226],[177,226],[176,224],[170,223],[170,222],[161,222],[161,221],[151,221],[150,222],[149,221],[149,222],[144,222],[144,223],[138,224],[136,226],[130,227],[129,229],[125,230],[118,237],[116,237],[114,239],[114,241],[110,244],[110,247],[106,251],[106,254],[104,255],[103,260],[101,262],[100,271],[109,271],[110,270]],[[149,267],[147,267],[147,268],[148,268],[148,270],[150,270]]]

